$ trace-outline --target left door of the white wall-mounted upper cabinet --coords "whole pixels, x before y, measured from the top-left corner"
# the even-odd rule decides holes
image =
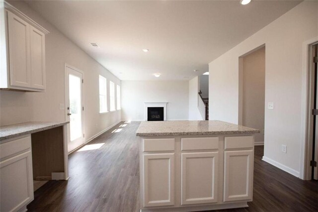
[[[7,14],[10,85],[30,88],[30,25],[11,12]]]

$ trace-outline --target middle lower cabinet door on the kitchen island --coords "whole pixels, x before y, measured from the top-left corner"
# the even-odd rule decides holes
[[[181,205],[217,202],[218,152],[181,154]]]

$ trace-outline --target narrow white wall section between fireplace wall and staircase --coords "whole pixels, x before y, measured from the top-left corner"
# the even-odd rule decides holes
[[[203,120],[198,109],[199,77],[189,80],[189,120]]]

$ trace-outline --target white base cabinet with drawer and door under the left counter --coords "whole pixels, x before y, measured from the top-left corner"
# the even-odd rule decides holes
[[[0,144],[0,211],[18,211],[33,199],[31,137]]]

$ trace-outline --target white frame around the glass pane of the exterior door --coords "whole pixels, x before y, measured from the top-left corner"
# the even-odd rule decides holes
[[[65,86],[65,108],[64,108],[64,113],[65,113],[65,120],[66,121],[70,121],[70,116],[68,115],[68,109],[67,109],[67,107],[68,107],[67,106],[67,102],[68,102],[67,99],[68,99],[68,93],[69,93],[68,92],[68,86],[67,86],[68,85],[68,82],[67,82],[67,79],[68,79],[68,77],[67,77],[67,74],[68,74],[67,68],[70,68],[70,69],[73,69],[74,71],[79,72],[82,75],[82,80],[84,80],[84,72],[81,71],[78,68],[75,68],[74,66],[71,66],[71,65],[65,63],[65,66],[64,66],[64,70],[65,70],[65,84],[64,84],[64,86]],[[81,98],[82,98],[82,103],[83,103],[83,107],[84,107],[84,103],[85,103],[85,99],[84,99],[84,83],[81,83],[81,91],[82,91]],[[82,130],[83,130],[82,133],[85,135],[85,112],[84,111],[82,112]],[[68,125],[70,125],[70,124],[68,124]],[[70,130],[68,130],[68,131],[70,131]],[[69,140],[71,139],[70,138],[71,133],[68,132],[67,134],[68,134],[67,143],[69,143]],[[86,139],[85,139],[85,136],[83,136],[82,145],[84,145],[85,143],[86,143]],[[80,145],[79,147],[81,147],[82,145]],[[74,150],[78,149],[79,147],[77,147],[77,148],[75,148],[75,149],[73,149],[71,151],[68,151],[68,153],[73,152]]]

